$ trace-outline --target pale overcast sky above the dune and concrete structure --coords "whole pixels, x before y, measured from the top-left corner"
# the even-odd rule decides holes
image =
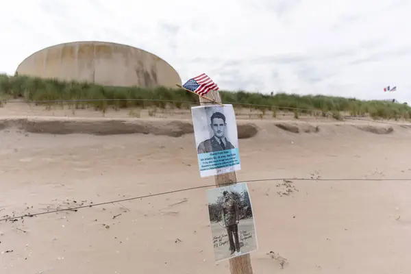
[[[4,3],[3,3],[4,2]],[[77,40],[118,42],[223,90],[411,103],[411,1],[5,0],[0,71]],[[396,92],[383,91],[397,86]]]

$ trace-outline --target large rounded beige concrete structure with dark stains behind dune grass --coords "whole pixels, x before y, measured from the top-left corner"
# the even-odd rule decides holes
[[[18,75],[146,88],[182,84],[161,58],[134,47],[108,42],[71,42],[47,47],[18,66]]]

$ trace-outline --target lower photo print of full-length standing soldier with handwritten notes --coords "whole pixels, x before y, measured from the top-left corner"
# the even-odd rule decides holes
[[[247,183],[209,189],[207,201],[216,261],[257,250]]]

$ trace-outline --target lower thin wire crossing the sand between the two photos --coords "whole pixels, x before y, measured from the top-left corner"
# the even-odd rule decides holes
[[[387,182],[387,181],[401,181],[401,182],[411,182],[411,178],[390,178],[390,179],[365,179],[365,178],[340,178],[340,179],[321,179],[321,178],[268,178],[268,179],[251,179],[247,181],[240,181],[236,183],[227,183],[227,184],[220,184],[219,186],[229,186],[233,184],[240,184],[240,183],[253,183],[253,182],[269,182],[269,181],[283,181],[283,182],[292,182],[292,181],[323,181],[323,182],[329,182],[329,181],[334,181],[334,182],[339,182],[339,181],[345,181],[345,182],[356,182],[356,181],[366,181],[366,182],[371,182],[371,181],[378,181],[378,182]],[[132,201],[136,199],[145,199],[149,197],[155,197],[155,196],[162,196],[162,195],[168,195],[172,193],[177,193],[177,192],[184,192],[188,190],[196,190],[199,188],[210,188],[210,187],[215,187],[216,184],[208,184],[204,186],[193,186],[190,188],[181,188],[178,190],[170,190],[170,191],[165,191],[165,192],[158,192],[154,194],[149,194],[149,195],[142,195],[142,196],[136,196],[136,197],[131,197],[131,198],[125,198],[125,199],[117,199],[117,200],[112,200],[112,201],[105,201],[101,203],[92,203],[88,206],[76,206],[76,207],[71,207],[71,208],[62,208],[58,210],[51,210],[51,211],[44,211],[44,212],[38,212],[34,214],[23,214],[20,216],[8,216],[3,219],[0,219],[0,221],[10,221],[14,219],[23,219],[25,217],[34,217],[34,216],[39,216],[39,215],[44,215],[44,214],[51,214],[51,213],[57,213],[57,212],[62,212],[62,211],[73,211],[73,210],[79,210],[82,208],[92,208],[95,206],[103,206],[107,205],[110,203],[120,203],[122,201]],[[5,215],[7,216],[7,215]]]

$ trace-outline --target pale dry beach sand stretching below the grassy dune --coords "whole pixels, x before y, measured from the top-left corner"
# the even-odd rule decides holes
[[[0,216],[214,183],[199,177],[189,117],[55,122],[8,110],[0,108]],[[411,178],[409,127],[238,122],[257,129],[239,140],[240,181]],[[144,134],[107,135],[119,124]],[[411,273],[411,182],[291,181],[249,183],[254,273]],[[214,263],[206,203],[199,188],[0,222],[1,273],[229,273],[228,262]]]

